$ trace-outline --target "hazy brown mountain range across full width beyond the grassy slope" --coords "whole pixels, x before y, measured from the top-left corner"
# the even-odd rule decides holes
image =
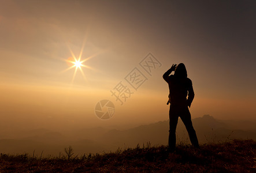
[[[224,142],[233,138],[256,140],[255,122],[220,121],[213,116],[204,115],[192,119],[199,143]],[[254,125],[254,126],[253,126]],[[103,153],[117,148],[134,148],[150,142],[151,145],[167,145],[169,121],[141,125],[127,130],[76,129],[68,132],[35,129],[18,131],[12,138],[0,139],[1,153],[29,153],[58,156],[71,145],[77,154]],[[14,134],[14,133],[13,133]],[[177,125],[177,144],[190,144],[187,131],[181,120]]]

